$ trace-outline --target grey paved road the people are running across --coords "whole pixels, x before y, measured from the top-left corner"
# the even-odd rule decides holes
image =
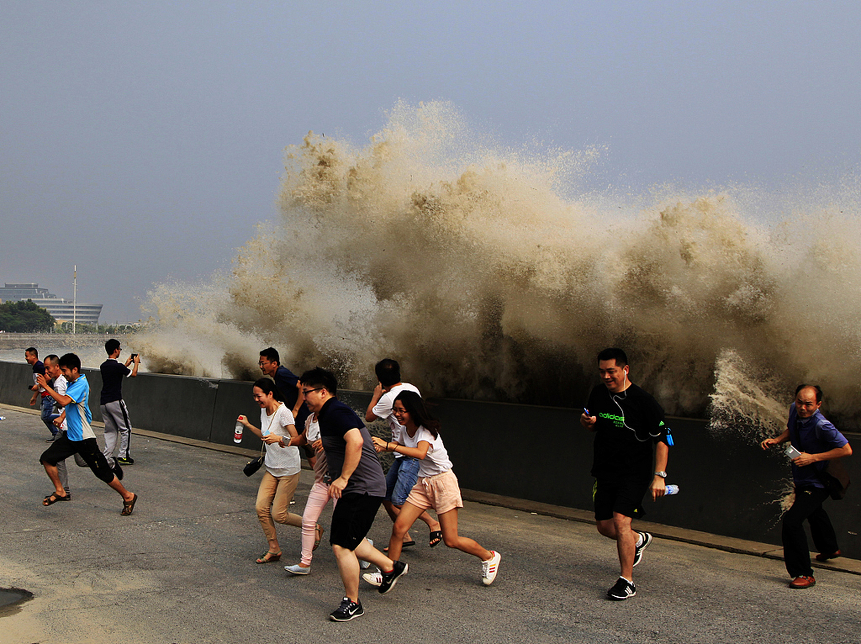
[[[861,576],[820,571],[815,588],[792,591],[781,561],[656,539],[636,568],[637,596],[614,603],[604,591],[615,546],[590,525],[477,503],[461,511],[461,532],[503,554],[492,586],[474,558],[420,539],[391,593],[363,586],[365,616],[329,622],[341,598],[330,549],[319,548],[307,577],[254,563],[265,542],[245,457],[135,437],[132,517],[74,465],[72,501],[45,508],[46,430],[31,414],[0,415],[0,585],[35,595],[0,616],[4,644],[861,640]],[[303,472],[294,507],[310,482]],[[389,525],[381,512],[371,536],[386,542]],[[298,530],[279,534],[298,554]]]

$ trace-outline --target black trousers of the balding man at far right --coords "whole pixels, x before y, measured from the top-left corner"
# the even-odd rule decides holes
[[[804,534],[804,519],[810,523],[810,536],[817,552],[837,552],[837,535],[831,525],[822,502],[828,498],[824,487],[796,487],[796,502],[784,514],[782,536],[784,540],[784,563],[790,577],[813,575],[810,567],[810,552],[807,535]]]

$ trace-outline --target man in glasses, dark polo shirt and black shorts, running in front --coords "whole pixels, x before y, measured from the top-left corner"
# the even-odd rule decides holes
[[[338,560],[345,597],[329,618],[348,622],[364,614],[359,602],[359,559],[388,575],[386,591],[407,567],[400,563],[396,568],[393,560],[365,539],[386,495],[386,477],[368,428],[356,412],[335,397],[338,381],[331,371],[314,368],[302,374],[300,381],[308,409],[317,414],[331,477],[329,494],[337,500],[329,542]]]

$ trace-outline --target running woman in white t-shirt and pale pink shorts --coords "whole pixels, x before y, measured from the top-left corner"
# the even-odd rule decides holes
[[[439,436],[439,421],[427,411],[421,396],[410,391],[401,392],[394,399],[393,413],[406,431],[401,432],[400,442],[387,442],[374,437],[376,450],[412,456],[418,458],[420,464],[418,481],[412,487],[392,528],[392,538],[388,544],[389,559],[400,559],[401,543],[406,531],[418,515],[433,509],[437,511],[437,518],[443,528],[445,545],[478,557],[481,560],[482,582],[484,585],[492,584],[502,557],[498,552],[483,548],[473,539],[457,534],[457,510],[463,507],[463,500],[457,477],[451,471],[449,453]],[[384,577],[381,576],[381,581]],[[365,580],[373,584],[375,575],[366,574]]]

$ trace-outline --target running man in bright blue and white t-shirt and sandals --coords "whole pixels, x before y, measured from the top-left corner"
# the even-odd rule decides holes
[[[67,459],[69,456],[80,454],[87,465],[108,486],[122,497],[122,511],[120,514],[127,517],[134,510],[134,504],[138,495],[129,492],[114,474],[114,470],[108,465],[108,460],[96,443],[96,434],[90,425],[93,419],[90,412],[90,383],[87,376],[81,373],[81,359],[73,353],[67,353],[59,359],[60,371],[65,375],[68,382],[65,393],[56,392],[51,387],[44,375],[37,376],[37,383],[44,387],[49,396],[56,400],[60,406],[65,407],[65,433],[60,434],[51,447],[46,449],[40,456],[40,461],[45,468],[48,478],[54,484],[54,492],[45,497],[42,505],[53,505],[58,501],[69,500],[59,480],[57,463]]]

